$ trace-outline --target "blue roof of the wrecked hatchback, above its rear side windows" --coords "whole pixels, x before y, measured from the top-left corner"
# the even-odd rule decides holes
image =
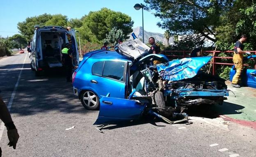
[[[98,53],[91,55],[91,57],[96,59],[118,59],[132,61],[130,58],[120,55],[116,51],[99,51]]]

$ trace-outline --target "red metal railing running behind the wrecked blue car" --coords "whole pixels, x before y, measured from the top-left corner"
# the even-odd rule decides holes
[[[91,52],[94,50],[81,50],[81,55],[80,57],[82,57],[85,53],[87,52]],[[80,51],[79,51],[80,52]],[[173,59],[177,59],[177,58],[185,58],[185,57],[190,57],[190,52],[191,51],[163,51],[162,53],[165,54],[170,60]],[[213,60],[209,62],[209,64],[212,64],[213,66],[213,75],[215,75],[216,73],[216,64],[217,65],[228,65],[228,66],[233,66],[233,63],[221,63],[221,62],[216,62],[216,59],[232,59],[233,57],[218,57],[218,54],[224,52],[224,53],[233,53],[234,51],[203,51],[202,53],[212,53],[213,55]],[[251,54],[255,54],[256,55],[256,51],[248,51],[251,52]],[[181,55],[176,55],[176,53],[180,53]],[[172,55],[175,54],[175,55]],[[248,64],[244,64],[244,66],[248,66]]]

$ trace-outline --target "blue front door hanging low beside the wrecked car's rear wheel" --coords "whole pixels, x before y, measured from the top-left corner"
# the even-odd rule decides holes
[[[144,111],[145,103],[113,97],[100,99],[100,112],[94,125],[118,124],[139,119]]]

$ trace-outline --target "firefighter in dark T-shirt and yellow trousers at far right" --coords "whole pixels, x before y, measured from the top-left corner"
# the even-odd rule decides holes
[[[240,88],[241,75],[243,71],[243,54],[251,55],[250,52],[244,51],[243,43],[246,42],[247,36],[242,34],[240,39],[235,43],[235,51],[233,55],[233,63],[235,64],[235,75],[232,79],[232,86]]]

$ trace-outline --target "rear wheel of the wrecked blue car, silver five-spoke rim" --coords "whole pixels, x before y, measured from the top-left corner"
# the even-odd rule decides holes
[[[80,101],[87,110],[98,110],[100,107],[99,97],[93,91],[82,91]]]

